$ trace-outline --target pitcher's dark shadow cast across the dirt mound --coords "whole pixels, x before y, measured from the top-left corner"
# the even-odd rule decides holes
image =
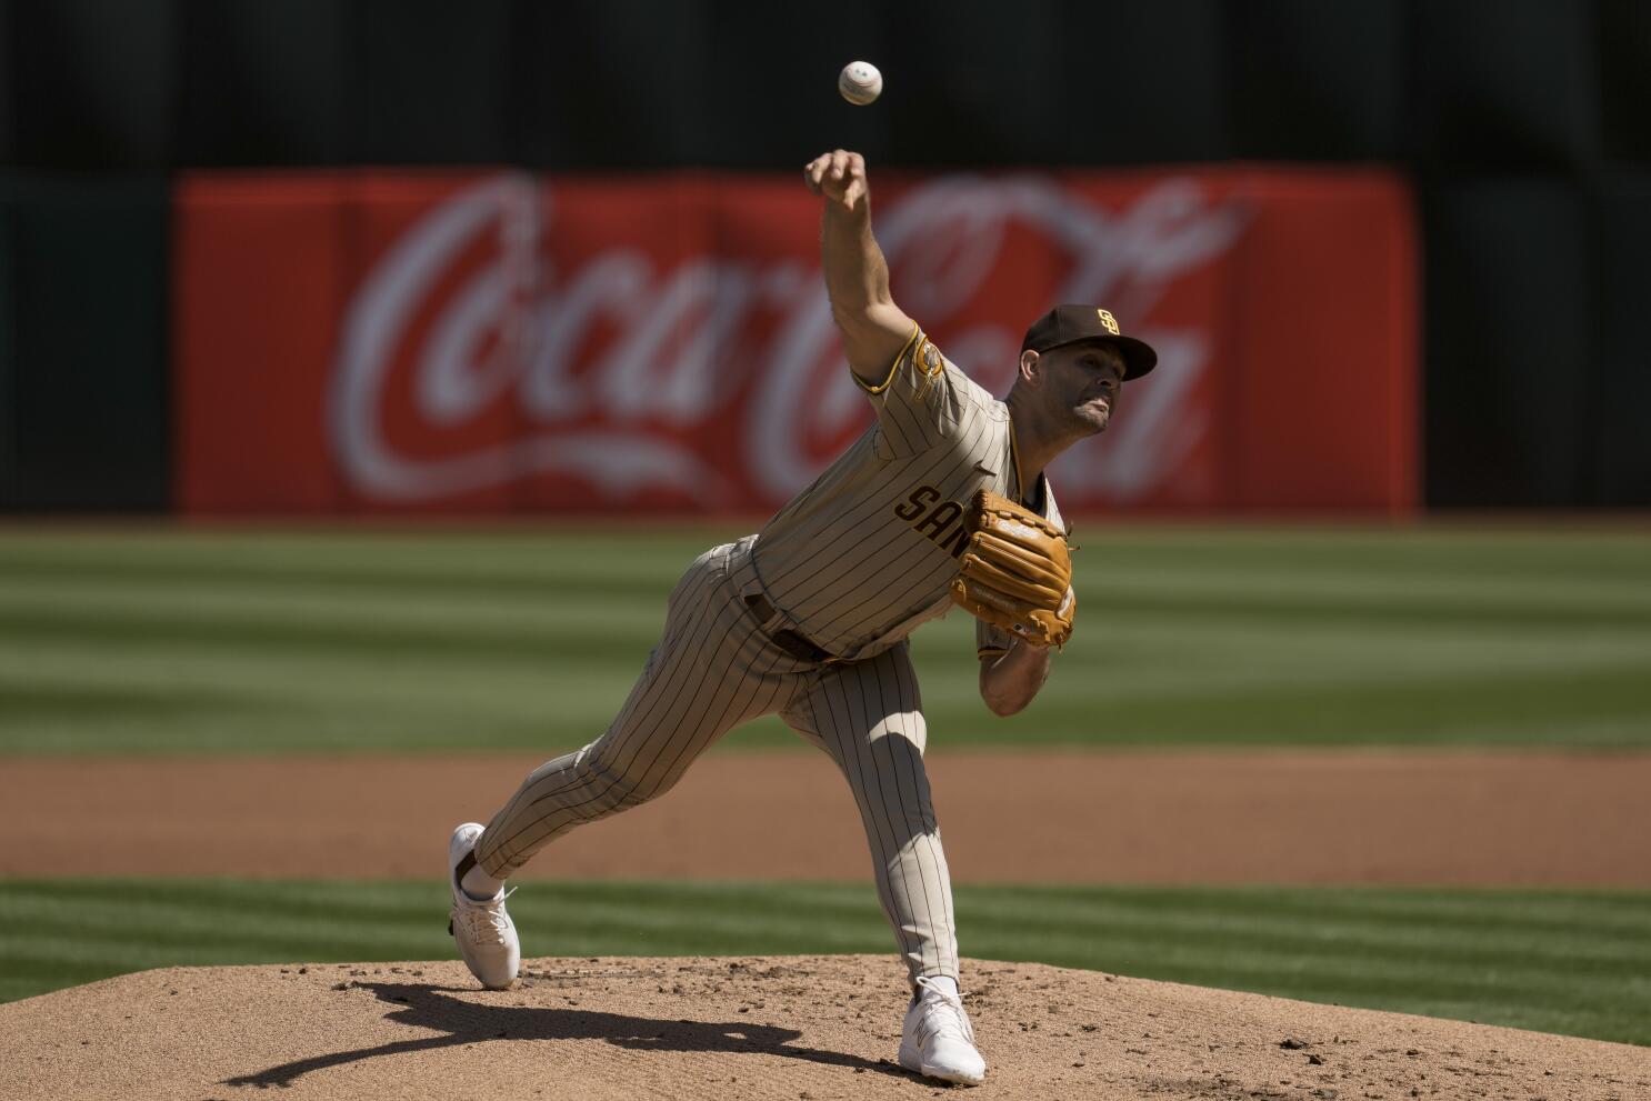
[[[296,1080],[317,1070],[357,1063],[380,1055],[401,1051],[431,1051],[464,1043],[490,1040],[606,1040],[616,1047],[637,1051],[730,1051],[745,1055],[781,1055],[784,1058],[877,1071],[896,1078],[910,1078],[895,1063],[865,1060],[844,1051],[794,1047],[791,1042],[802,1033],[796,1028],[776,1028],[750,1022],[715,1023],[703,1020],[655,1020],[652,1017],[626,1017],[573,1009],[528,1009],[522,1005],[485,1005],[466,1002],[454,994],[474,994],[457,987],[436,987],[424,982],[355,982],[355,987],[371,990],[378,1000],[403,1005],[388,1020],[416,1028],[434,1028],[446,1035],[398,1040],[375,1048],[334,1051],[271,1066],[254,1075],[226,1078],[225,1086],[291,1086]]]

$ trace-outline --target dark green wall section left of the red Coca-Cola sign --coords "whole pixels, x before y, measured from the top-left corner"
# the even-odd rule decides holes
[[[160,177],[0,173],[7,507],[167,507],[167,205]]]

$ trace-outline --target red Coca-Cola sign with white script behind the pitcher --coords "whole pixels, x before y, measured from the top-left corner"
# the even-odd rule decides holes
[[[773,510],[872,421],[819,203],[707,173],[185,180],[180,503]],[[900,305],[994,393],[1055,302],[1159,350],[1106,436],[1052,469],[1065,510],[1413,503],[1392,180],[880,175],[873,223]]]

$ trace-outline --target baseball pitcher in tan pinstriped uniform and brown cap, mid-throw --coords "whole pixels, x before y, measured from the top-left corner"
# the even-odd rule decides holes
[[[1076,614],[1043,470],[1105,431],[1123,383],[1157,357],[1106,310],[1057,305],[999,401],[895,305],[863,158],[822,154],[804,178],[824,198],[826,291],[877,423],[759,533],[688,566],[601,738],[535,769],[485,827],[454,830],[451,931],[484,985],[509,987],[522,952],[505,880],[575,827],[670,791],[728,730],[779,715],[830,754],[860,809],[911,985],[901,1066],[979,1083],[906,639],[959,604],[977,619],[981,698],[997,715],[1032,702]]]

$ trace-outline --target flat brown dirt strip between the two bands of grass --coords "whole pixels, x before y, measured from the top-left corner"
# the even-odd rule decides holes
[[[28,759],[0,875],[436,875],[537,758]],[[959,881],[1651,886],[1651,754],[963,753],[931,774]],[[720,753],[523,878],[860,880],[821,754]]]

